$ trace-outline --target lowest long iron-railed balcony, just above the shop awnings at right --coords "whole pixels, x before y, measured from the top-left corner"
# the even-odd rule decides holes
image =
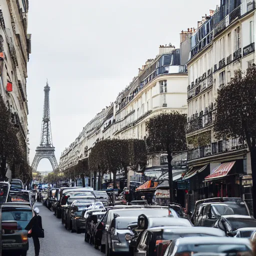
[[[246,144],[240,143],[238,139],[219,140],[211,145],[199,146],[187,151],[187,160],[194,160],[214,154],[235,151],[247,148]]]

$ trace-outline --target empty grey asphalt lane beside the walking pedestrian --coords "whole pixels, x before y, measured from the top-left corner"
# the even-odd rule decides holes
[[[40,256],[103,256],[93,246],[84,242],[84,233],[76,234],[67,231],[61,224],[61,219],[56,218],[41,203],[35,204],[40,210],[44,238],[40,239]],[[34,256],[33,240],[29,238],[29,250],[27,256]]]

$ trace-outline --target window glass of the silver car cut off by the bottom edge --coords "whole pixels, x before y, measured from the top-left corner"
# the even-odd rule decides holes
[[[180,244],[177,252],[225,252],[250,251],[244,244]]]

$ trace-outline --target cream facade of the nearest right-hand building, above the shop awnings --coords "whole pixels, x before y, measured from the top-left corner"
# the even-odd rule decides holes
[[[246,148],[242,147],[241,141],[238,138],[218,141],[213,133],[217,89],[230,82],[236,70],[245,71],[254,63],[255,10],[247,9],[247,7],[249,8],[247,1],[242,0],[241,6],[236,7],[222,20],[215,22],[220,7],[212,17],[208,18],[209,24],[213,25],[205,38],[211,34],[211,40],[207,41],[202,48],[191,47],[190,59],[187,63],[188,118],[186,126],[190,166],[210,163],[210,171],[212,171],[223,161],[245,157],[247,158],[245,171],[251,173],[251,167],[248,164],[249,153]],[[198,37],[199,30],[200,27],[192,37]],[[210,85],[208,77],[211,75],[209,74],[212,75]],[[204,134],[207,134],[207,139]]]

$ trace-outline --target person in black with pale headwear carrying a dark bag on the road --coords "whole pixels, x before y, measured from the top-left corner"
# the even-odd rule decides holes
[[[31,232],[31,237],[33,238],[34,243],[34,253],[35,256],[39,256],[40,242],[38,237],[44,237],[42,229],[42,218],[39,215],[39,209],[37,207],[35,207],[33,211],[34,216],[30,219],[29,223],[25,227],[25,230],[29,230]]]

